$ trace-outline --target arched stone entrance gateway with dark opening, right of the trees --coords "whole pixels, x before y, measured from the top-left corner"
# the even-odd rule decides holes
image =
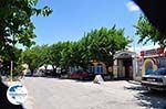
[[[114,55],[114,78],[137,79],[136,75],[138,70],[138,55],[135,52],[121,51]]]

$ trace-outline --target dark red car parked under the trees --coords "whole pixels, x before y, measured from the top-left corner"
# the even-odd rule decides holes
[[[72,79],[86,79],[89,77],[90,77],[89,73],[84,70],[76,70],[70,75],[70,78]]]

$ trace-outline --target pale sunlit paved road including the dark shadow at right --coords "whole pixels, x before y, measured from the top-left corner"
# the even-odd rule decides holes
[[[101,85],[27,77],[28,109],[166,109],[166,94],[153,94],[128,81]]]

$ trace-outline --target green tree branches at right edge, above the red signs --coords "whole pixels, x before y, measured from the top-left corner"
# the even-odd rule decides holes
[[[166,39],[165,35],[158,32],[158,30],[148,22],[147,18],[141,15],[136,28],[136,35],[139,35],[138,43],[147,44],[147,42],[152,41],[154,44],[159,44],[162,47],[166,47]]]

